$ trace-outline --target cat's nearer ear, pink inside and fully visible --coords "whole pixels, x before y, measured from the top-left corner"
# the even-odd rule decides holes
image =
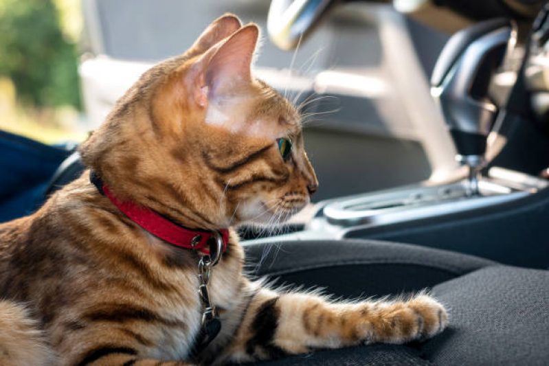
[[[235,87],[251,82],[251,63],[259,38],[259,28],[248,24],[205,52],[193,65],[194,99],[206,106]]]

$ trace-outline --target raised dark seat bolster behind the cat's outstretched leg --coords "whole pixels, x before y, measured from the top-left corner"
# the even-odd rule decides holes
[[[495,262],[472,255],[374,240],[245,244],[248,273],[281,284],[321,286],[342,297],[417,291]]]

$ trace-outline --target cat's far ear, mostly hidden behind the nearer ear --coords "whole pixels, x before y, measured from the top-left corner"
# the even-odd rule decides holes
[[[203,54],[213,45],[239,30],[240,27],[242,27],[242,23],[238,16],[224,14],[208,25],[186,54],[188,56]]]

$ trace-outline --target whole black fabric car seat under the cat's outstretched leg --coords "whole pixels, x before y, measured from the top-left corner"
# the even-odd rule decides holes
[[[430,288],[450,325],[424,343],[323,350],[261,363],[282,365],[547,365],[549,271],[449,251],[366,240],[246,246],[251,274],[321,286],[343,297]],[[260,265],[258,265],[260,263]]]

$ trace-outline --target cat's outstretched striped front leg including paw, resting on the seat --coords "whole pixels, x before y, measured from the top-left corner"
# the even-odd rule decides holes
[[[444,330],[447,312],[425,294],[402,301],[329,302],[318,295],[262,288],[227,348],[231,361],[302,354],[319,348],[405,343]]]

